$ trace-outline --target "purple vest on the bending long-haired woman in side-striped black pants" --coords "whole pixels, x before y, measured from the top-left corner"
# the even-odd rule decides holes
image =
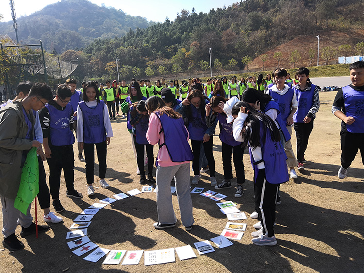
[[[289,180],[287,171],[287,156],[284,152],[284,148],[281,142],[274,141],[271,137],[271,131],[269,128],[266,129],[265,136],[263,135],[263,123],[260,124],[260,147],[262,149],[262,160],[265,166],[265,178],[271,184],[281,184]],[[250,161],[254,169],[254,175],[256,181],[256,176],[258,174],[257,164],[260,162],[255,162],[251,148],[249,147]]]

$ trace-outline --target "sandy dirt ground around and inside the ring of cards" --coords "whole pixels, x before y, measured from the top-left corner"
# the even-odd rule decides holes
[[[97,263],[77,257],[67,246],[66,233],[72,220],[94,202],[113,194],[138,188],[136,161],[131,147],[131,138],[126,130],[126,120],[112,121],[114,137],[108,147],[107,181],[109,189],[97,189],[91,198],[87,196],[84,174],[85,164],[75,160],[75,188],[82,192],[83,199],[66,197],[64,182],[61,186],[61,202],[65,211],[61,213],[64,222],[50,223],[50,231],[21,239],[25,249],[9,253],[0,252],[0,272],[39,273],[39,272],[363,272],[364,259],[364,171],[360,153],[347,172],[344,180],[339,180],[337,171],[340,165],[340,121],[331,114],[331,105],[336,92],[321,92],[321,107],[314,121],[306,152],[306,170],[298,174],[298,179],[281,185],[281,205],[277,206],[275,232],[278,244],[273,247],[259,247],[251,242],[256,220],[249,215],[254,211],[252,168],[248,153],[244,155],[246,169],[245,193],[235,198],[236,180],[231,189],[221,190],[228,195],[226,201],[237,202],[238,208],[246,213],[247,230],[233,245],[197,258],[161,265],[144,266],[144,256],[139,265],[103,265],[104,258]],[[223,179],[221,142],[214,136],[214,156],[216,178]],[[292,135],[292,142],[296,138]],[[294,145],[295,146],[295,145]],[[75,146],[76,150],[76,146]],[[294,149],[295,150],[295,149]],[[155,147],[155,155],[157,147]],[[48,168],[47,164],[45,164]],[[97,174],[98,167],[95,168]],[[153,174],[155,175],[155,169]],[[191,172],[192,174],[192,172]],[[63,178],[62,178],[63,179]],[[95,182],[98,177],[95,175]],[[197,185],[205,190],[212,189],[208,176],[203,175]],[[173,193],[177,226],[169,230],[156,230],[157,221],[155,193],[142,193],[114,202],[101,209],[93,218],[88,235],[92,242],[107,249],[158,250],[179,247],[194,242],[208,240],[220,235],[227,218],[215,201],[192,194],[195,225],[186,232],[180,222],[177,198]],[[40,209],[38,207],[38,209]],[[51,206],[51,210],[54,209]],[[34,206],[32,215],[34,216]],[[39,223],[44,225],[38,210]],[[2,225],[2,217],[0,220]],[[17,227],[16,234],[20,233]],[[193,247],[194,248],[194,247]]]

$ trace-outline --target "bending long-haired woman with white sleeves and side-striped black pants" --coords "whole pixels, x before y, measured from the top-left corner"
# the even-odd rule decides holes
[[[254,169],[255,207],[262,228],[252,232],[252,242],[259,246],[276,245],[273,226],[277,186],[289,180],[280,133],[271,119],[246,102],[236,103],[232,116],[235,118],[233,136],[236,141],[248,144]]]

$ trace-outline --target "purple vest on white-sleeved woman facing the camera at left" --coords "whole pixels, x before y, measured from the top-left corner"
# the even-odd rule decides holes
[[[106,141],[104,125],[104,107],[102,100],[94,109],[88,107],[84,101],[79,102],[83,116],[83,142],[100,143]]]

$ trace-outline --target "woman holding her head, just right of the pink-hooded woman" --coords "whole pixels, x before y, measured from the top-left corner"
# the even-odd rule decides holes
[[[200,84],[196,84],[199,85]],[[195,87],[196,88],[196,87]],[[200,150],[201,144],[205,150],[205,155],[210,168],[211,186],[215,187],[217,181],[215,178],[215,160],[213,156],[213,134],[214,128],[209,128],[206,125],[206,110],[205,106],[209,101],[200,90],[191,90],[187,98],[182,101],[180,113],[183,118],[187,119],[188,131],[190,133],[192,152],[193,152],[193,170],[195,176],[191,184],[196,185],[199,182],[200,174]]]

